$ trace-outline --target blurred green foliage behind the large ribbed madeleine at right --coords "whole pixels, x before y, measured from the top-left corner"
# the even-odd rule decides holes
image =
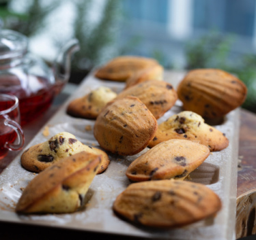
[[[256,56],[240,54],[231,56],[231,43],[234,37],[221,35],[216,31],[203,35],[186,46],[186,69],[216,68],[236,75],[246,84],[248,93],[242,105],[256,112]]]

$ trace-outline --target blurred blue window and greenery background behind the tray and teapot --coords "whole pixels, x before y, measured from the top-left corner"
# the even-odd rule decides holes
[[[165,69],[236,74],[248,87],[242,107],[256,112],[255,0],[0,0],[0,18],[49,65],[69,39],[79,39],[75,84],[115,56],[148,56]]]

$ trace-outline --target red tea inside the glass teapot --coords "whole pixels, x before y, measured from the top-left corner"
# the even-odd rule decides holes
[[[26,84],[23,86],[22,80],[15,75],[5,77],[0,76],[0,92],[11,93],[18,97],[22,126],[38,118],[53,102],[55,86],[49,85],[45,78],[26,75],[24,81]]]

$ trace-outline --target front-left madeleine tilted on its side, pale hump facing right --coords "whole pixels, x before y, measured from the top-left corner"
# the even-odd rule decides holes
[[[101,156],[80,152],[36,175],[16,205],[18,213],[70,213],[83,205]]]

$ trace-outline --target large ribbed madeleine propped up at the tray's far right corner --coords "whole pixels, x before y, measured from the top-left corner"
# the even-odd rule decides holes
[[[242,105],[246,93],[242,81],[220,69],[189,71],[177,87],[184,110],[209,119],[225,116]]]

